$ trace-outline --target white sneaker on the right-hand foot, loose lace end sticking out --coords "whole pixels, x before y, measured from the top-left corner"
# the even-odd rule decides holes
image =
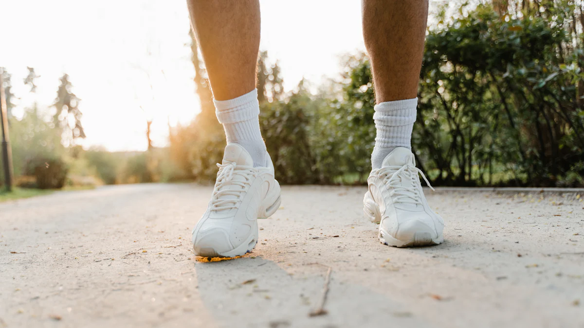
[[[413,153],[395,148],[372,170],[363,198],[365,216],[379,225],[379,240],[389,246],[437,245],[444,241],[444,220],[434,213],[424,197]]]

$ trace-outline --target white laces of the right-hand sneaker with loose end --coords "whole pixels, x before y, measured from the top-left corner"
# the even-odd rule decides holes
[[[393,189],[390,196],[396,196],[393,198],[394,203],[422,204],[422,198],[418,190],[418,184],[420,183],[418,173],[422,175],[428,187],[434,190],[422,170],[413,165],[384,166],[378,170],[378,174],[383,179],[383,183]],[[413,187],[399,186],[399,183],[405,180],[411,180]]]

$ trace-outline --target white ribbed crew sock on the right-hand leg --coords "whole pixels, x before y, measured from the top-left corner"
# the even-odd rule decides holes
[[[412,149],[412,128],[416,121],[418,98],[379,103],[374,107],[373,120],[377,129],[375,146],[371,153],[371,167],[381,163],[396,147]]]

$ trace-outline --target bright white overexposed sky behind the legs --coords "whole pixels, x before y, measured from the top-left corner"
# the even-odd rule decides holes
[[[65,72],[82,99],[86,148],[144,150],[148,117],[154,145],[164,146],[168,122],[199,112],[185,0],[1,2],[0,67],[12,74],[16,115],[34,102],[50,106]],[[339,55],[364,49],[358,0],[260,3],[260,49],[280,61],[286,90],[303,76],[336,76]],[[22,82],[27,66],[40,75],[36,94]]]

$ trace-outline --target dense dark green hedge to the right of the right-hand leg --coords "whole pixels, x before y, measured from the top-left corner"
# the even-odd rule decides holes
[[[556,186],[584,158],[562,19],[478,6],[427,36],[413,144],[436,184]],[[497,163],[514,178],[496,181]]]

